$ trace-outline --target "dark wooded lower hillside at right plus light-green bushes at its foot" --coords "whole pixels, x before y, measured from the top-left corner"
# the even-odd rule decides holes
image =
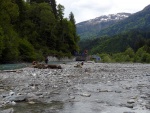
[[[90,54],[99,55],[103,62],[150,63],[150,29],[85,40],[80,46],[83,50],[88,49]]]

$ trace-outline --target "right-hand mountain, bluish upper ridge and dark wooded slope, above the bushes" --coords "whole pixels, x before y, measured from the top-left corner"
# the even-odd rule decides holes
[[[131,47],[135,52],[146,46],[150,53],[150,5],[103,30],[96,38],[81,40],[81,50],[92,54],[123,52]]]

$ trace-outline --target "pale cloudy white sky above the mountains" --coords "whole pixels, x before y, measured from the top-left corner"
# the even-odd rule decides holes
[[[102,15],[136,13],[150,5],[150,0],[56,0],[56,2],[65,7],[64,17],[68,18],[70,12],[73,12],[76,23]]]

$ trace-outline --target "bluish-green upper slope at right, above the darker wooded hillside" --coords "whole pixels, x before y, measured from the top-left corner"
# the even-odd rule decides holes
[[[100,30],[97,37],[102,35],[113,36],[122,32],[127,32],[133,29],[146,30],[150,27],[150,5],[145,7],[142,11],[132,14],[130,17],[115,23],[114,25]]]

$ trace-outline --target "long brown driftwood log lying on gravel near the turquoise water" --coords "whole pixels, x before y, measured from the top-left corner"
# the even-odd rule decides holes
[[[46,65],[46,64],[40,64],[36,61],[32,62],[32,66],[34,68],[38,68],[38,69],[62,69],[62,67],[60,65]]]

